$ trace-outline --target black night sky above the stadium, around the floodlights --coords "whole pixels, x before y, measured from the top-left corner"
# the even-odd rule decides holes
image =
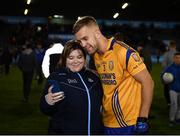
[[[124,2],[129,2],[122,10]],[[53,14],[65,18],[92,15],[99,19],[112,19],[119,12],[118,19],[180,21],[180,0],[6,0],[0,4],[0,16],[22,16],[24,9],[30,9],[28,16],[47,17]]]

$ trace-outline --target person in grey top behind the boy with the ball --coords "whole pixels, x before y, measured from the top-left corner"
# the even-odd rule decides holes
[[[166,69],[166,67],[170,66],[173,63],[173,55],[176,52],[176,42],[170,41],[168,46],[168,51],[166,51],[163,55],[163,61],[162,61],[162,71]],[[169,87],[168,84],[164,84],[164,97],[167,103],[167,106],[170,106],[170,95],[169,95]]]

